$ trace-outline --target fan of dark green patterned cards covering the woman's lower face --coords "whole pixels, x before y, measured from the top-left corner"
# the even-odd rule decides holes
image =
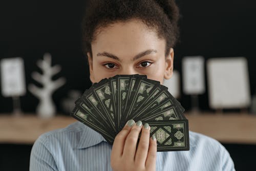
[[[133,119],[151,126],[157,151],[189,150],[184,108],[159,81],[146,75],[116,75],[94,83],[76,100],[72,116],[100,133],[111,145]]]

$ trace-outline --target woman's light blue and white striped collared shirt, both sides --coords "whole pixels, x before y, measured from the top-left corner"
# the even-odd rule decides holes
[[[216,140],[189,132],[190,150],[158,152],[156,170],[234,170]],[[33,145],[30,170],[111,170],[111,145],[81,122],[41,135]]]

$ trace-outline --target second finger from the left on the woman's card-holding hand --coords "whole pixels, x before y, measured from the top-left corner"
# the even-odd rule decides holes
[[[125,160],[134,161],[136,146],[141,131],[142,122],[138,121],[131,129],[129,135],[127,135],[124,148],[123,148],[123,157]]]

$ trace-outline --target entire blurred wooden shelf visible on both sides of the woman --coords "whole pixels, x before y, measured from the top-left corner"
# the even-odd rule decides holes
[[[256,144],[256,115],[186,114],[189,130],[202,133],[222,143]],[[32,114],[0,114],[0,143],[33,144],[39,135],[66,127],[76,120],[57,115],[40,119]]]

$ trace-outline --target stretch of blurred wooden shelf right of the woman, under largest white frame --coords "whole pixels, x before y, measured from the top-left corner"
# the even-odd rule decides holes
[[[256,144],[256,115],[201,114],[186,115],[189,130],[223,143]]]

